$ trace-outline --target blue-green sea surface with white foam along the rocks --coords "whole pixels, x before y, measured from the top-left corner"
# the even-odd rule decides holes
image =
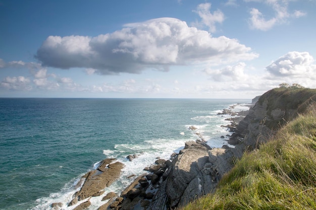
[[[211,147],[227,144],[218,115],[248,99],[0,99],[0,209],[63,209],[80,176],[106,158],[125,167],[106,191],[120,193],[157,157],[169,159],[200,132]],[[237,109],[247,109],[237,106]],[[189,130],[194,125],[197,130]],[[138,158],[128,161],[128,155]],[[105,194],[104,194],[105,195]],[[91,199],[89,209],[104,203]]]

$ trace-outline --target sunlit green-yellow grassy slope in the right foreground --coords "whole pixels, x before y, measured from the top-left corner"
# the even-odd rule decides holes
[[[316,103],[182,209],[316,209]]]

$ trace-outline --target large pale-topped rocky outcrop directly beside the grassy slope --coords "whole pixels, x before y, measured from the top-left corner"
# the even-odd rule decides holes
[[[167,178],[160,181],[150,208],[156,210],[183,206],[214,190],[224,172],[220,174],[217,170],[218,164],[222,162],[216,162],[215,158],[210,162],[209,151],[212,150],[201,141],[186,142],[185,148],[164,173],[163,177]],[[218,155],[212,154],[213,157]]]

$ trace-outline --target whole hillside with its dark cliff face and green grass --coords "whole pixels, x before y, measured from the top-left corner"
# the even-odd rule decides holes
[[[315,97],[296,87],[262,95],[239,130],[248,152],[214,193],[181,209],[316,209]]]

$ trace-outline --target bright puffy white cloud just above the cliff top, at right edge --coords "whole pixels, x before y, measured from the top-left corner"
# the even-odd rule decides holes
[[[266,67],[276,77],[316,78],[316,64],[308,52],[288,52]]]

